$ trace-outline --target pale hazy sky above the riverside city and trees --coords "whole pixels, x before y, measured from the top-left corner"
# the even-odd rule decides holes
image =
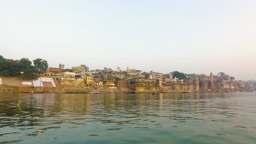
[[[256,1],[0,1],[0,55],[256,80]]]

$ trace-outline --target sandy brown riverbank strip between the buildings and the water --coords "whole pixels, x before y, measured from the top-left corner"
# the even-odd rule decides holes
[[[33,80],[20,80],[17,77],[2,77],[2,85],[0,85],[0,93],[13,93],[13,92],[24,92],[24,91],[37,91],[37,87],[32,85],[24,85],[23,83],[32,82]],[[55,92],[55,93],[90,93],[94,91],[101,91],[102,93],[152,93],[152,90],[145,91],[134,91],[130,88],[115,88],[110,89],[108,87],[90,88],[80,86],[69,86],[69,85],[60,85],[57,80],[54,80],[56,87],[53,87],[50,82],[43,82],[42,88],[40,91],[45,92]],[[226,92],[228,91],[216,91],[216,92]],[[170,91],[162,89],[161,93],[191,93],[191,92],[205,92],[205,91]]]

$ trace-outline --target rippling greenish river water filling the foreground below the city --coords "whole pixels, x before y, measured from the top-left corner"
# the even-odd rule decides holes
[[[256,143],[256,93],[0,94],[0,143]]]

